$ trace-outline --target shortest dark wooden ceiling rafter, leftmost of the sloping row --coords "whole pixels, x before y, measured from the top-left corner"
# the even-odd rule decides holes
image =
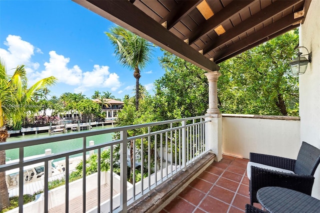
[[[166,28],[172,28],[177,22],[179,22],[184,16],[189,14],[202,0],[179,0],[178,4],[172,9],[163,19],[166,23]]]

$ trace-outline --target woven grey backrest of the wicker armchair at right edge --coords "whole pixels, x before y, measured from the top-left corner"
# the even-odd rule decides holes
[[[320,150],[303,141],[295,162],[293,172],[295,174],[313,176],[319,163]]]

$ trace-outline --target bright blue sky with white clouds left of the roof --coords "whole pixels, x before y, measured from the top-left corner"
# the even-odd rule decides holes
[[[30,83],[55,76],[50,95],[75,92],[91,97],[95,90],[116,98],[133,96],[133,70],[121,67],[104,32],[115,24],[71,0],[0,0],[0,57],[9,74],[24,64]],[[153,94],[153,82],[164,74],[153,51],[141,70],[140,83]]]

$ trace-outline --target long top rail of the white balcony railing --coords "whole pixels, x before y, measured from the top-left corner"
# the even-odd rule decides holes
[[[22,147],[22,146],[24,147],[24,146],[38,145],[38,144],[42,144],[43,141],[45,141],[46,143],[51,143],[51,142],[69,140],[69,139],[74,139],[74,138],[84,138],[84,137],[94,136],[94,135],[99,135],[99,134],[107,134],[107,133],[126,131],[126,130],[130,130],[130,129],[139,129],[139,128],[149,127],[149,126],[159,126],[159,125],[170,124],[170,123],[178,123],[178,122],[182,122],[182,121],[188,121],[188,120],[194,120],[194,119],[200,119],[200,118],[206,118],[206,117],[209,117],[209,116],[203,115],[203,116],[181,118],[181,119],[174,119],[174,120],[167,120],[167,121],[159,121],[159,122],[152,122],[152,123],[145,123],[145,124],[136,124],[136,125],[130,125],[130,126],[114,127],[114,128],[110,128],[110,129],[103,129],[103,130],[91,130],[91,131],[86,131],[86,132],[76,132],[76,133],[70,133],[67,135],[48,136],[48,137],[32,139],[32,140],[4,142],[4,143],[0,143],[0,150],[14,149],[14,148]],[[26,142],[27,142],[27,144],[21,145],[22,143],[26,143]]]

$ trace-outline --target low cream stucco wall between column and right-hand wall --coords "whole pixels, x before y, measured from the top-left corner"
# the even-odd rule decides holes
[[[222,152],[247,159],[250,152],[296,159],[300,121],[277,117],[222,114]]]

